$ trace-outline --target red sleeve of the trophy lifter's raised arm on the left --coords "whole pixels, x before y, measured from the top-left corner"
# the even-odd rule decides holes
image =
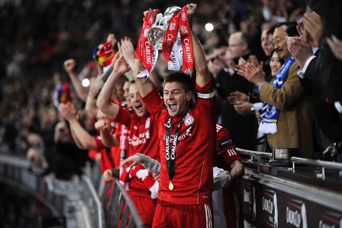
[[[163,108],[164,101],[160,97],[157,88],[154,88],[151,92],[141,97],[147,110],[158,120],[161,109]]]

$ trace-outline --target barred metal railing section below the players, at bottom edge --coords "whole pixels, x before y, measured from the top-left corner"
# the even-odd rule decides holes
[[[131,216],[129,217],[129,214]],[[106,211],[106,227],[124,227],[144,228],[139,213],[127,191],[119,184],[117,179],[114,180],[113,190]]]

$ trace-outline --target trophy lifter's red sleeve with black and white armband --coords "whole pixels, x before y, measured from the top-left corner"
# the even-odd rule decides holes
[[[197,90],[197,104],[201,107],[203,113],[207,113],[210,115],[212,120],[216,122],[218,116],[218,104],[216,101],[216,93],[214,90],[214,86],[212,84],[212,80],[210,80],[205,86],[199,87],[196,84]]]

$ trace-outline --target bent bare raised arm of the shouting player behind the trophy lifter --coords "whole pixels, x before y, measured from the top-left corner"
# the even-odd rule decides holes
[[[103,111],[107,116],[115,119],[119,112],[119,106],[111,103],[110,98],[115,87],[115,83],[119,77],[129,71],[130,68],[123,56],[115,60],[113,64],[113,71],[110,73],[106,83],[103,85],[100,94],[97,97],[96,106]]]

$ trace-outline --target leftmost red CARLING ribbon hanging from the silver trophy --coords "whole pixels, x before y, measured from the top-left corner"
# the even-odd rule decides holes
[[[158,13],[160,13],[160,10],[152,10],[146,14],[135,53],[135,58],[140,58],[148,72],[150,72],[152,66],[153,48],[147,40],[147,32],[155,22]]]

